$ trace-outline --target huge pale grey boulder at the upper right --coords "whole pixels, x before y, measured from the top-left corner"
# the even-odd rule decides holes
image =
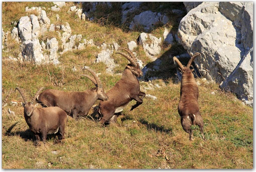
[[[194,62],[207,80],[240,99],[253,100],[252,2],[203,2],[181,20],[178,36],[190,55],[201,53]]]

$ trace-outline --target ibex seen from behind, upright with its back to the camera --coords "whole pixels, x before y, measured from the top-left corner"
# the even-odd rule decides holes
[[[180,83],[180,100],[178,104],[178,112],[180,115],[181,125],[187,133],[189,133],[189,140],[193,140],[193,130],[190,128],[192,125],[198,125],[203,139],[204,135],[204,122],[199,111],[198,105],[198,87],[196,84],[195,77],[193,75],[194,69],[189,69],[193,60],[201,56],[200,53],[195,53],[193,57],[189,60],[187,66],[183,66],[177,57],[173,57],[174,64],[175,61],[181,68],[182,78]]]

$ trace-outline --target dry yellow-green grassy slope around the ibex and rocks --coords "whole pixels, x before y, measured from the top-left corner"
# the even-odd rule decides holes
[[[112,23],[112,26],[101,26],[89,21],[75,20],[77,17],[74,13],[63,12],[68,11],[71,5],[71,2],[68,3],[61,12],[46,10],[51,23],[57,23],[55,16],[59,14],[62,22],[70,24],[72,34],[82,34],[83,38],[93,39],[97,45],[104,41],[108,44],[115,41],[127,47],[127,42],[136,40],[141,33],[127,32],[125,27],[117,26],[117,21]],[[146,9],[148,4],[142,5],[141,8]],[[5,32],[12,30],[11,21],[18,21],[20,16],[30,15],[25,12],[26,6],[45,6],[47,9],[52,4],[3,2],[2,22]],[[167,7],[170,8],[170,4],[167,4]],[[118,6],[115,5],[114,8]],[[114,15],[119,16],[116,11],[113,10]],[[173,29],[172,26],[175,27],[175,24],[167,24],[170,29]],[[159,26],[152,33],[159,37],[163,31],[164,27]],[[40,39],[52,37],[60,40],[55,33],[41,35]],[[2,53],[2,98],[10,88],[17,85],[24,89],[28,100],[31,100],[41,86],[62,91],[90,89],[93,83],[79,76],[85,72],[81,70],[83,66],[89,66],[95,72],[102,73],[100,78],[106,92],[121,78],[107,74],[104,64],[93,63],[100,50],[86,47],[82,51],[61,55],[59,60],[63,70],[62,65],[48,65],[51,77],[54,75],[57,83],[63,84],[56,86],[50,81],[47,66],[5,60],[8,56],[16,57],[18,47],[17,43],[9,40],[4,50],[9,48],[12,51]],[[13,107],[8,104],[2,110],[2,168],[252,168],[253,108],[243,106],[233,94],[219,90],[217,84],[197,79],[201,83],[198,102],[204,119],[207,142],[200,138],[198,126],[193,127],[194,140],[189,141],[189,134],[180,125],[177,112],[180,85],[173,83],[172,76],[176,67],[169,59],[169,55],[176,55],[180,47],[164,44],[162,47],[163,52],[159,57],[164,62],[163,71],[155,74],[163,76],[167,84],[164,84],[163,80],[154,81],[153,85],[158,83],[164,86],[147,90],[146,94],[157,96],[157,100],[145,98],[142,105],[129,112],[130,106],[135,103],[132,101],[118,117],[116,125],[101,127],[90,116],[79,121],[68,118],[65,143],[53,145],[56,138],[49,135],[46,145],[40,143],[40,146],[35,147],[32,143],[35,136],[24,120],[22,106],[19,104]],[[138,46],[135,51],[144,64],[150,63],[142,46]],[[127,60],[119,55],[113,55],[113,58],[120,64],[116,72],[122,72]],[[73,66],[78,70],[73,72]],[[215,95],[211,94],[212,91]],[[11,100],[23,101],[18,92],[12,94],[8,102]],[[98,103],[99,101],[95,102]],[[14,111],[15,115],[9,115],[8,108]],[[93,110],[89,114],[92,112]],[[165,156],[158,153],[162,149],[165,150]],[[58,153],[53,154],[52,151]]]

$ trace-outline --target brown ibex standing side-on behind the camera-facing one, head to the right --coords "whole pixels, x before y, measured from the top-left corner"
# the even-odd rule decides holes
[[[68,115],[75,119],[78,116],[86,117],[89,110],[97,100],[108,100],[108,95],[103,91],[100,78],[96,73],[89,69],[83,68],[92,73],[93,77],[89,75],[82,75],[88,77],[95,84],[95,88],[85,90],[83,92],[64,92],[59,90],[47,89],[37,96],[38,102],[44,106],[58,106],[63,109]]]

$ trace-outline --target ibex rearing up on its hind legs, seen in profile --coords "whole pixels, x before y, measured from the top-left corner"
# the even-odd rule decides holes
[[[139,68],[136,57],[127,48],[120,47],[118,50],[128,52],[131,57],[121,52],[116,54],[121,54],[131,63],[126,65],[122,78],[107,92],[109,100],[107,102],[100,101],[98,113],[101,117],[100,122],[102,125],[107,121],[114,123],[117,118],[115,113],[121,112],[132,100],[136,100],[137,103],[131,107],[130,111],[142,104],[146,95],[140,91],[140,83],[137,77],[143,76],[143,72]]]

